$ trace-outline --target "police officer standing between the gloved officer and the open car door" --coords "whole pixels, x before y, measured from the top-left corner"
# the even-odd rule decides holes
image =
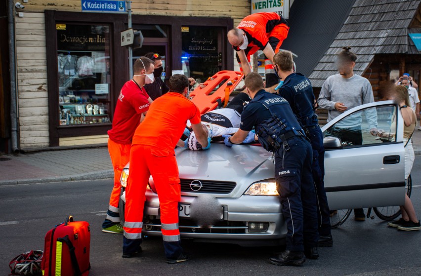
[[[293,54],[290,51],[278,52],[273,60],[275,71],[283,81],[278,93],[290,103],[298,122],[310,139],[313,149],[313,179],[318,201],[319,246],[333,246],[329,204],[323,181],[325,177],[325,148],[323,147],[323,133],[319,127],[317,115],[314,113],[317,102],[313,88],[309,79],[295,73]]]

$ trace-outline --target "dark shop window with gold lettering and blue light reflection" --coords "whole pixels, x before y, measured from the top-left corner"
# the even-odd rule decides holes
[[[222,29],[182,26],[181,62],[184,75],[203,82],[222,70]]]

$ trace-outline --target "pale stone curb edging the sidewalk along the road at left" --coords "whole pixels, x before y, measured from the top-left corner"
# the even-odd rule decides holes
[[[114,171],[112,169],[95,171],[95,172],[87,172],[87,173],[76,174],[76,175],[57,176],[57,177],[0,180],[0,186],[52,183],[52,182],[64,182],[64,181],[98,180],[98,179],[108,179],[108,178],[114,178]]]

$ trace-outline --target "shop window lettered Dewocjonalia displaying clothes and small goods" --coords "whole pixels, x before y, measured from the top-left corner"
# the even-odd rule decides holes
[[[56,24],[60,125],[111,122],[109,29]]]

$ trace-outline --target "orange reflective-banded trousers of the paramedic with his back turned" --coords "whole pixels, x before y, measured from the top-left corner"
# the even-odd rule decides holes
[[[160,202],[164,243],[180,240],[178,202],[181,200],[178,166],[173,152],[154,146],[132,145],[126,187],[124,236],[140,239],[146,187],[152,175]]]

